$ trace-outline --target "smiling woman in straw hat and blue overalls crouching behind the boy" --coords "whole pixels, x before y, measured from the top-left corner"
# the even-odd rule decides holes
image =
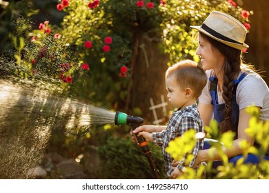
[[[205,125],[214,117],[221,132],[234,131],[237,136],[232,148],[224,150],[229,158],[238,159],[243,152],[239,148],[242,140],[254,144],[255,141],[245,132],[250,114],[246,108],[259,107],[260,119],[269,119],[269,90],[259,74],[241,60],[241,50],[248,48],[244,43],[246,28],[237,19],[223,12],[213,11],[201,26],[190,26],[199,31],[197,55],[206,70],[208,83],[199,97],[198,110]],[[155,132],[162,126],[143,125],[135,133]],[[196,164],[202,161],[219,161],[216,152],[200,150]],[[253,162],[253,161],[252,161]]]

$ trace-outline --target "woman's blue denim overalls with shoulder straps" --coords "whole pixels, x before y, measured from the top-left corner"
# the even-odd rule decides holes
[[[235,83],[235,88],[232,91],[232,114],[231,114],[231,119],[232,119],[232,125],[233,128],[232,130],[236,132],[236,139],[237,139],[237,128],[238,128],[238,122],[239,122],[239,105],[237,104],[236,101],[236,92],[237,92],[237,85],[240,83],[240,81],[243,80],[243,78],[246,77],[246,73],[241,74],[239,79],[236,79],[234,81]],[[217,94],[217,84],[218,84],[218,79],[217,77],[210,77],[210,95],[212,97],[212,105],[214,106],[214,119],[218,122],[221,123],[221,121],[224,120],[224,109],[225,109],[225,104],[219,104],[218,102],[218,94]],[[205,140],[205,144],[203,146],[203,149],[208,149],[210,148],[210,143],[208,143],[207,139]],[[238,159],[240,159],[242,155],[232,157],[229,159],[229,162],[236,163]],[[265,159],[269,159],[268,156],[265,157]],[[248,154],[247,159],[245,160],[245,163],[259,163],[259,158],[258,156],[254,154]],[[213,163],[213,167],[217,167],[218,165],[221,165],[221,161],[215,161]]]

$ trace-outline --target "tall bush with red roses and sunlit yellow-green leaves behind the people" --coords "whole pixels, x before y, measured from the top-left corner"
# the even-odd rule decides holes
[[[184,58],[198,61],[197,41],[189,26],[201,25],[212,10],[220,10],[249,30],[252,14],[234,1],[221,0],[62,0],[55,10],[66,12],[61,28],[44,21],[30,34],[31,42],[26,44],[30,52],[24,61],[30,69],[28,77],[48,75],[73,95],[106,99],[114,108],[126,99],[132,85],[130,63],[137,57],[133,54],[137,39],[154,34],[151,38],[170,57],[168,65]]]

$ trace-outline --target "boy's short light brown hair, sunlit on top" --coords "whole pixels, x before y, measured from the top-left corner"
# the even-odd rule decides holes
[[[195,61],[180,61],[166,70],[166,79],[174,76],[181,89],[190,88],[196,99],[206,86],[206,72]]]

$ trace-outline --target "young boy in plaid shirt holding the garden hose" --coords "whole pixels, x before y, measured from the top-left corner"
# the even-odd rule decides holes
[[[147,141],[153,141],[162,147],[163,159],[166,165],[166,173],[170,179],[176,179],[182,174],[183,167],[195,163],[198,150],[203,148],[203,140],[197,140],[192,154],[195,158],[190,165],[185,165],[184,161],[179,161],[177,167],[172,167],[172,156],[166,152],[168,143],[184,132],[195,129],[195,132],[204,132],[203,121],[197,110],[197,99],[206,85],[207,77],[203,68],[194,61],[186,60],[172,65],[166,71],[166,89],[168,99],[174,108],[166,130],[162,126],[142,125],[134,132],[139,131],[139,135]],[[161,132],[158,132],[162,130]],[[182,147],[183,148],[183,147]]]

